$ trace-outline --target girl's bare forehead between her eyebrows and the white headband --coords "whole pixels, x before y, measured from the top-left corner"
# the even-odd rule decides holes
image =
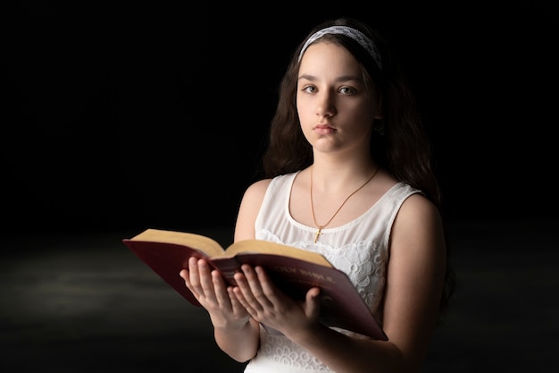
[[[349,51],[329,40],[318,40],[309,46],[299,65],[299,72],[341,71],[356,73],[359,63]]]

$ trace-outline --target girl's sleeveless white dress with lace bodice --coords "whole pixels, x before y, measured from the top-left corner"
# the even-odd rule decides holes
[[[421,191],[399,182],[362,216],[346,225],[322,229],[324,234],[314,243],[316,227],[302,225],[289,214],[289,195],[295,176],[296,173],[285,174],[272,179],[256,217],[256,239],[321,253],[334,267],[346,272],[381,323],[380,302],[386,281],[390,229],[405,199]],[[260,329],[260,350],[246,365],[246,373],[332,371],[284,335],[269,333],[263,326]]]

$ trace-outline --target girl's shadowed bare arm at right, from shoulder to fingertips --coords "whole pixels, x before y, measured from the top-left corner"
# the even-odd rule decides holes
[[[407,199],[392,228],[383,310],[389,341],[342,335],[316,320],[316,292],[303,305],[289,300],[260,268],[244,267],[238,300],[249,314],[343,372],[415,372],[438,318],[446,247],[438,210],[420,195]],[[239,274],[238,274],[239,275]]]

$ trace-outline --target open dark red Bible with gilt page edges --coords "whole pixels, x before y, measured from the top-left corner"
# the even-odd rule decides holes
[[[231,285],[236,284],[233,275],[247,263],[264,267],[274,284],[296,300],[304,300],[310,288],[320,287],[319,319],[324,325],[388,340],[349,277],[319,253],[261,240],[235,242],[223,249],[219,242],[201,234],[158,229],[147,229],[122,242],[196,306],[200,304],[179,276],[181,269],[188,268],[190,257],[206,259]]]

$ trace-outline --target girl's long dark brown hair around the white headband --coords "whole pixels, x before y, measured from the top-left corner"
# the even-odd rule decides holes
[[[371,38],[380,52],[381,68],[371,54],[353,38],[338,34],[327,34],[320,38],[345,47],[354,55],[361,65],[365,81],[380,93],[385,131],[373,131],[371,157],[398,181],[421,190],[441,210],[442,198],[434,172],[430,140],[408,81],[392,55],[387,40],[378,31],[355,19],[340,18],[323,22],[311,30],[296,48],[280,82],[279,102],[271,119],[268,146],[263,154],[264,175],[274,177],[293,173],[313,163],[313,148],[305,139],[296,110],[298,56],[307,38],[318,30],[336,25],[349,26],[363,32]],[[446,277],[441,309],[446,308],[446,302],[454,288],[454,273],[449,266]]]

